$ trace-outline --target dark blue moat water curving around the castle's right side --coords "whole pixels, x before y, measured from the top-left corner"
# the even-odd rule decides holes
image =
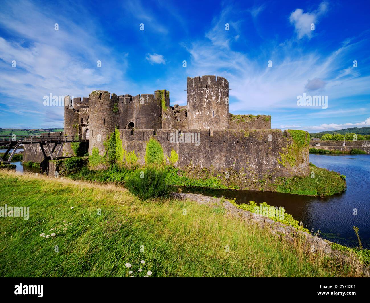
[[[347,190],[324,198],[255,191],[196,192],[236,198],[238,203],[256,201],[284,206],[286,212],[303,222],[307,229],[313,229],[314,232],[320,229],[323,238],[342,245],[357,246],[353,231],[353,226],[357,226],[364,248],[370,248],[370,155],[310,154],[310,162],[346,175]],[[357,208],[357,215],[353,215],[354,208]]]

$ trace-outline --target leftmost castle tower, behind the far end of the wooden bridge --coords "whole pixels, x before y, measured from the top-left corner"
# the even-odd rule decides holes
[[[78,111],[81,108],[88,108],[89,100],[84,97],[77,97],[71,99],[70,96],[64,97],[64,135],[65,136],[74,136],[80,135],[78,133]],[[64,156],[73,156],[73,150],[71,148],[71,143],[66,142],[63,145],[63,155]]]

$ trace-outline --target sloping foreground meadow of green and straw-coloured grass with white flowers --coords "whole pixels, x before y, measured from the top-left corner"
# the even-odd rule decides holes
[[[357,263],[312,255],[300,239],[290,244],[191,201],[144,202],[114,185],[6,171],[0,171],[0,195],[1,206],[30,206],[28,220],[0,218],[0,276],[362,275]]]

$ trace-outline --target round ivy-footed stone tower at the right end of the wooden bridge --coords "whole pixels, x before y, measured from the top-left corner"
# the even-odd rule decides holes
[[[118,97],[108,91],[93,91],[90,94],[90,137],[89,154],[97,147],[104,155],[104,141],[114,132],[118,125]]]

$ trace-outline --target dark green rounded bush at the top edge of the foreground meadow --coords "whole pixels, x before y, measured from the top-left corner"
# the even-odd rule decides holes
[[[146,167],[129,174],[126,177],[125,187],[143,200],[157,197],[166,198],[173,191],[166,178],[167,172],[164,169]]]

